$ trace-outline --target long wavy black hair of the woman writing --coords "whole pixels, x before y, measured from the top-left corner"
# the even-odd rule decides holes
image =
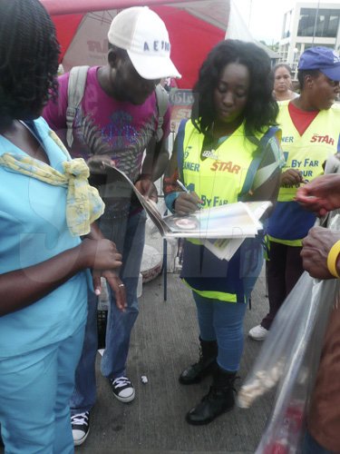
[[[264,133],[267,126],[276,124],[278,107],[272,95],[270,59],[256,44],[228,39],[209,52],[193,88],[191,121],[200,133],[209,133],[215,118],[214,91],[222,70],[231,63],[244,64],[249,71],[248,101],[244,110],[245,133],[249,140],[257,142],[253,139],[255,133]]]

